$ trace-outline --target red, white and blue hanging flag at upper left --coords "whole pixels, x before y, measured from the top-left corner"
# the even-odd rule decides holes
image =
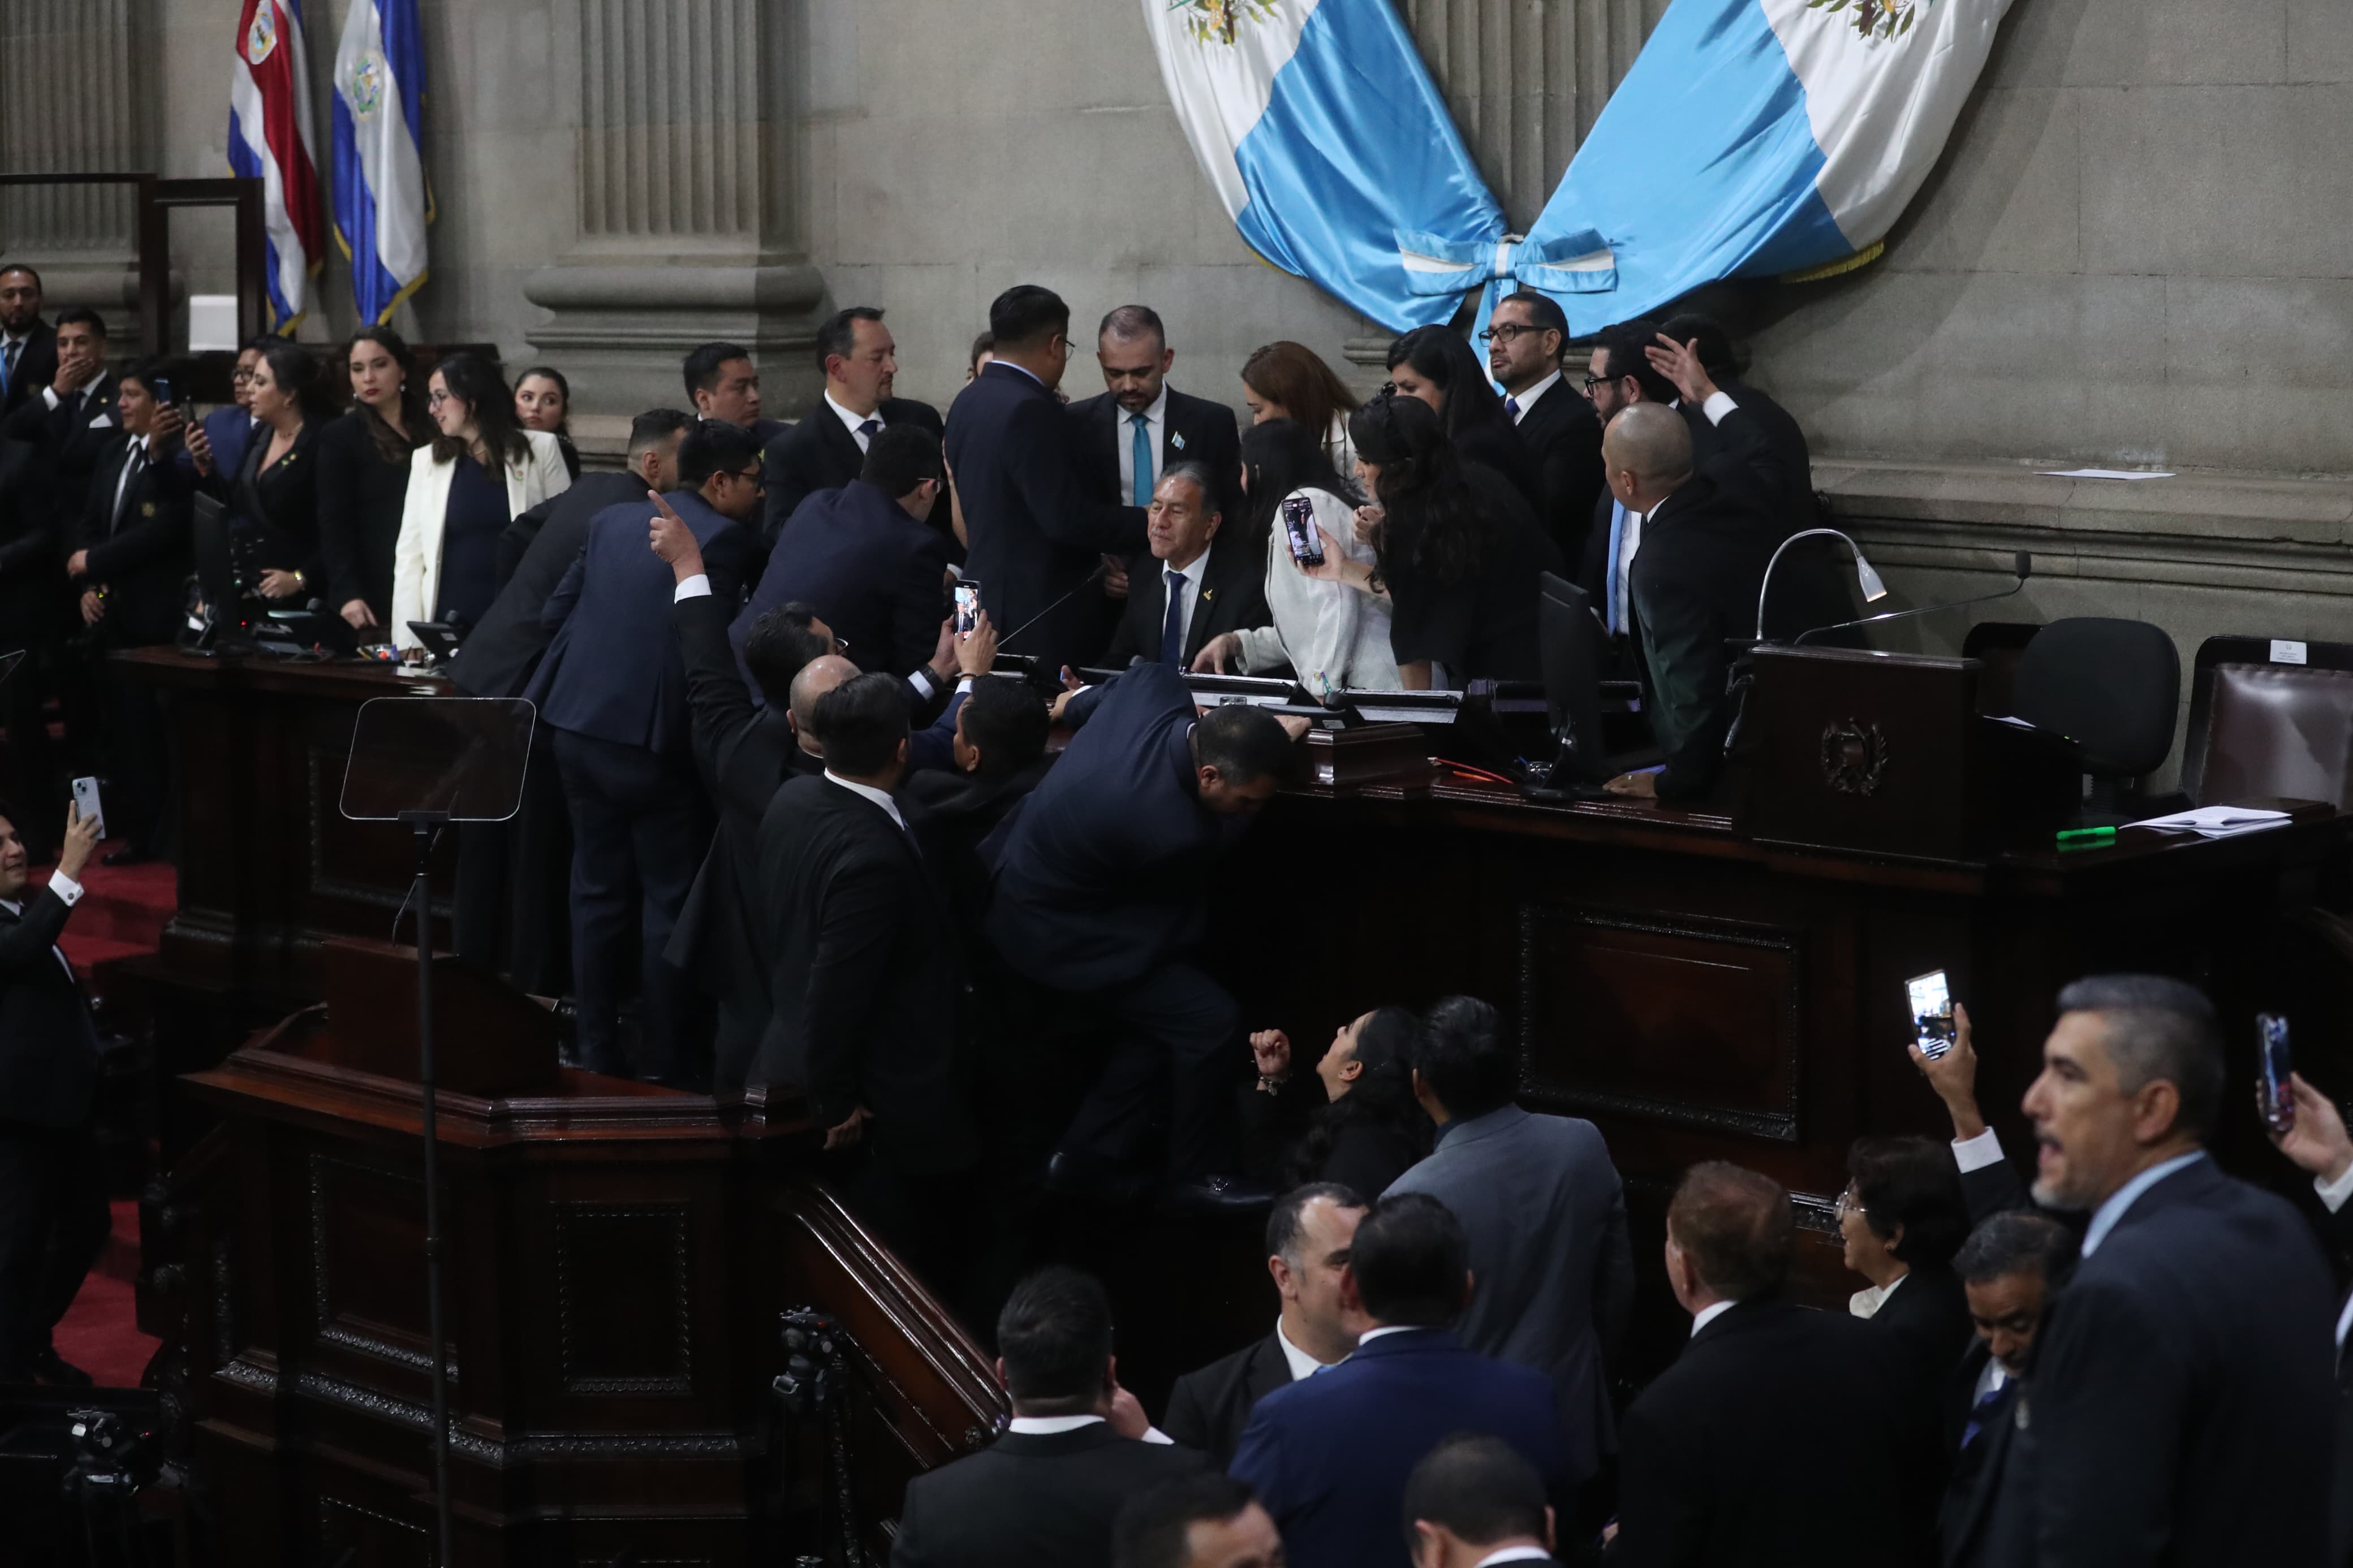
[[[311,303],[311,273],[327,261],[313,141],[301,0],[245,0],[228,75],[228,167],[261,181],[271,331],[294,331]]]

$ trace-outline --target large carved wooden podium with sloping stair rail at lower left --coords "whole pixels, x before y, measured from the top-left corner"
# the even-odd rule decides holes
[[[235,1563],[433,1561],[409,947],[332,940],[322,1006],[193,1091],[174,1173],[186,1399]],[[445,961],[447,964],[447,961]],[[824,1185],[798,1100],[560,1067],[536,1004],[435,976],[459,1563],[732,1566],[984,1443],[991,1361]],[[536,1018],[534,1018],[536,1013]],[[779,1314],[842,1328],[838,1406],[788,1425]]]

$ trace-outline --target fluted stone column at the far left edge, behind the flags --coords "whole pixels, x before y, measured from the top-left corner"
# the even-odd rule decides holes
[[[0,0],[0,172],[122,174],[148,158],[139,0]],[[40,268],[56,306],[129,324],[136,221],[129,186],[0,188],[0,256]]]

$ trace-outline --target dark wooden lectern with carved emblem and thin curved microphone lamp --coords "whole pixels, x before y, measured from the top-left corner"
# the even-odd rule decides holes
[[[1741,715],[1748,797],[1734,827],[1765,844],[1918,860],[2047,849],[2080,806],[2071,741],[1981,717],[1974,658],[1755,649]]]

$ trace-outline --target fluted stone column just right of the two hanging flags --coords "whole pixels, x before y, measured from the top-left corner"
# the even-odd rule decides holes
[[[824,306],[793,176],[793,28],[776,0],[572,0],[579,226],[525,284],[555,313],[525,336],[591,414],[680,404],[678,362],[729,339],[767,411],[814,397]]]

